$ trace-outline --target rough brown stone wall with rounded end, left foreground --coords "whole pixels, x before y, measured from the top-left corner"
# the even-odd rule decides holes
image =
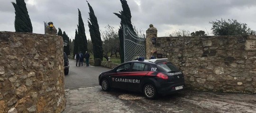
[[[61,113],[64,108],[62,37],[0,32],[0,113]]]

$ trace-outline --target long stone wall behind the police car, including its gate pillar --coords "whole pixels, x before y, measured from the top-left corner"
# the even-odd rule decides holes
[[[150,41],[154,35],[147,36],[147,58],[168,58],[181,68],[188,88],[256,93],[255,35],[156,37],[155,44]]]

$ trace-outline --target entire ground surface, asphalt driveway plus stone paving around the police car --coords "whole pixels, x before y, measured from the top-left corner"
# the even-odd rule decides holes
[[[105,92],[98,85],[102,67],[76,67],[70,60],[65,76],[66,108],[63,113],[256,113],[256,94],[212,93],[185,90],[146,99],[123,90]]]

